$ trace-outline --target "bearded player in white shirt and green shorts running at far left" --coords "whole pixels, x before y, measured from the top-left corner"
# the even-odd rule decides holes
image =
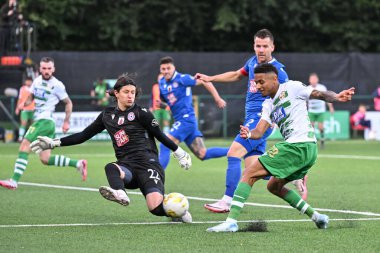
[[[36,107],[34,112],[34,122],[26,132],[19,148],[18,157],[14,166],[14,173],[11,179],[0,180],[0,186],[11,190],[17,189],[18,181],[24,174],[28,164],[28,156],[31,151],[29,145],[38,136],[55,137],[55,122],[53,112],[55,106],[62,101],[65,103],[66,117],[63,122],[62,130],[66,133],[70,128],[70,116],[73,104],[67,95],[66,88],[61,81],[53,76],[55,71],[54,60],[44,57],[40,61],[40,73],[29,88],[30,103],[34,98]],[[71,166],[78,169],[82,175],[82,180],[87,178],[87,161],[74,160],[63,155],[51,155],[51,150],[44,150],[39,153],[40,160],[45,165]]]

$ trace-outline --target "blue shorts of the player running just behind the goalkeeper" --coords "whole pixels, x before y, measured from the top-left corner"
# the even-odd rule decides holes
[[[198,122],[194,117],[182,118],[174,122],[169,133],[180,142],[185,142],[187,146],[190,146],[195,138],[203,137],[203,134],[198,129]]]

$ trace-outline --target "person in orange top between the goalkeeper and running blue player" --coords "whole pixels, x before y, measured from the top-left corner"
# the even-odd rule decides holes
[[[160,124],[162,131],[165,134],[169,133],[170,130],[170,108],[169,106],[161,101],[160,98],[160,87],[158,82],[162,78],[162,74],[159,74],[157,77],[157,83],[152,86],[152,105],[150,111],[153,113],[156,120]]]

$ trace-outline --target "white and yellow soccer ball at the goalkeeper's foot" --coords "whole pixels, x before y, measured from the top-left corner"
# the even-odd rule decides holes
[[[164,198],[164,210],[170,217],[182,217],[189,210],[189,201],[181,193],[169,193]]]

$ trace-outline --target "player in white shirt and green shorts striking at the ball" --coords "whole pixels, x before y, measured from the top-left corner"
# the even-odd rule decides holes
[[[285,141],[275,144],[245,168],[235,190],[227,220],[208,228],[207,231],[236,232],[239,229],[237,218],[253,184],[268,175],[272,176],[267,185],[271,193],[308,215],[318,228],[326,229],[328,216],[315,211],[297,192],[289,190],[285,185],[292,180],[303,178],[317,159],[317,140],[308,117],[306,101],[313,98],[330,103],[347,102],[351,100],[355,88],[336,94],[332,91],[311,90],[298,81],[288,81],[279,85],[277,69],[271,64],[259,65],[254,73],[257,89],[270,99],[263,103],[262,116],[256,128],[249,130],[240,126],[240,136],[259,139],[272,123],[276,123]]]

